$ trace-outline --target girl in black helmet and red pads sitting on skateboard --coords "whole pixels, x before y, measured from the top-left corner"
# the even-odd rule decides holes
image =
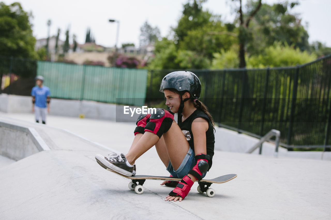
[[[166,201],[182,201],[193,183],[205,177],[214,155],[214,122],[207,107],[200,102],[201,84],[188,71],[166,75],[160,91],[164,92],[170,111],[157,108],[156,114],[141,114],[137,120],[129,152],[95,156],[98,164],[123,175],[136,174],[135,161],[154,145],[171,176],[182,179]],[[178,113],[178,124],[173,120]],[[163,184],[168,184],[167,181]]]

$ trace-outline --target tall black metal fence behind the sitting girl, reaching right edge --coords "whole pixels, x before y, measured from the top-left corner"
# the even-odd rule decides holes
[[[163,105],[163,77],[175,70],[151,70],[146,100]],[[281,145],[329,148],[331,56],[290,67],[190,70],[202,84],[201,101],[215,124],[261,137],[281,131]]]

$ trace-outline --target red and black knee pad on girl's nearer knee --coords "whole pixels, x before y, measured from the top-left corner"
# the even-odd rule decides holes
[[[172,112],[166,111],[163,108],[157,108],[156,113],[151,114],[144,131],[152,132],[161,138],[163,133],[167,132],[171,127],[172,121]]]

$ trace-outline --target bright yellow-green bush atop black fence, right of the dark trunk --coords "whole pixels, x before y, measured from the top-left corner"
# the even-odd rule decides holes
[[[264,50],[260,55],[254,55],[248,58],[248,68],[265,68],[265,67],[281,67],[295,66],[297,64],[305,64],[316,59],[316,55],[308,54],[306,51],[301,52],[299,48],[294,46],[282,46],[280,43],[275,43]]]

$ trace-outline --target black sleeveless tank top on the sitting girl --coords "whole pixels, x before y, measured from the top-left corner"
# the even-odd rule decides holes
[[[210,156],[210,160],[208,161],[209,168],[212,167],[212,160],[214,156],[214,144],[215,144],[215,136],[214,136],[214,128],[212,123],[210,122],[208,116],[201,110],[195,110],[185,121],[180,124],[180,129],[184,133],[186,140],[188,141],[190,147],[194,151],[194,137],[192,134],[192,122],[196,118],[204,118],[208,122],[208,130],[206,131],[206,147],[207,147],[207,155]]]

